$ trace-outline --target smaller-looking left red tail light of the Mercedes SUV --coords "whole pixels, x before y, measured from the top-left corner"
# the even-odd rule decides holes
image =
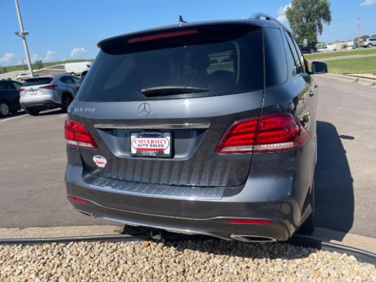
[[[92,138],[86,127],[78,121],[67,118],[64,126],[65,141],[68,145],[88,149],[98,149],[97,143]]]

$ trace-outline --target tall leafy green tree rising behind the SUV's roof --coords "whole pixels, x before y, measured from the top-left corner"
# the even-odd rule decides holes
[[[293,0],[286,17],[298,43],[302,44],[307,38],[308,44],[313,46],[317,44],[317,36],[323,33],[323,24],[332,21],[328,0]]]

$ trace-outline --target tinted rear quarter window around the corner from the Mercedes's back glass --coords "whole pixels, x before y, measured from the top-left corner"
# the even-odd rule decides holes
[[[265,86],[274,86],[287,80],[287,61],[280,29],[264,27]]]

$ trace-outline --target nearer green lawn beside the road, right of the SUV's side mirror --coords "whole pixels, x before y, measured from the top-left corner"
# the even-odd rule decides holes
[[[376,56],[327,61],[329,73],[376,73]]]

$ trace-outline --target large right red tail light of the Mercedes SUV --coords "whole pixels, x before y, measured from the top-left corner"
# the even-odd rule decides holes
[[[302,147],[311,138],[293,115],[282,112],[235,121],[215,148],[217,154],[283,152]]]

